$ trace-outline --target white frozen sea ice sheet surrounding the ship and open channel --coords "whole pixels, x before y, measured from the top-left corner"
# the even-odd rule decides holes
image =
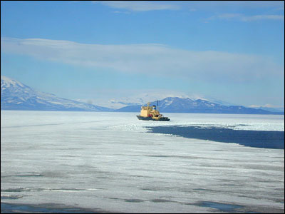
[[[1,211],[284,213],[284,149],[147,126],[284,131],[284,116],[1,111]]]

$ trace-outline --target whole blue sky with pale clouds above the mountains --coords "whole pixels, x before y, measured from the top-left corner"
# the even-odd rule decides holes
[[[63,98],[284,106],[284,1],[1,1],[1,75]]]

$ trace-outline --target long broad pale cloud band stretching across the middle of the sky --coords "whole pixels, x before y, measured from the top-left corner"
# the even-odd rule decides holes
[[[100,45],[49,39],[1,38],[1,51],[76,66],[110,68],[197,81],[247,82],[282,78],[284,68],[265,56],[221,51],[187,51],[161,44]]]

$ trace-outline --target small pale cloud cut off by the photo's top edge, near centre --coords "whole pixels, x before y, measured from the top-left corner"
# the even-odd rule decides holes
[[[154,11],[154,10],[177,10],[179,6],[161,1],[92,1],[95,4],[103,4],[115,9],[129,11]]]

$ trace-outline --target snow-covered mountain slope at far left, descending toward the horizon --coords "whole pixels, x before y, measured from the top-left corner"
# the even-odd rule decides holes
[[[111,108],[59,98],[43,93],[19,81],[1,76],[1,109],[46,111],[112,111]]]

